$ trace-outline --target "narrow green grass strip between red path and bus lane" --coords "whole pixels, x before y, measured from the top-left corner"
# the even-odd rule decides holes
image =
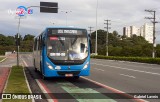
[[[22,66],[13,66],[11,69],[11,73],[8,79],[8,83],[5,89],[5,93],[13,93],[13,94],[29,94],[29,89],[27,87],[25,76],[23,72]],[[28,99],[10,99],[3,100],[3,102],[32,102],[32,100]]]

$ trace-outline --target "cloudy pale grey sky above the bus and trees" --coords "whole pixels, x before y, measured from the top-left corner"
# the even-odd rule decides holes
[[[8,13],[18,6],[39,6],[42,0],[1,0],[0,3],[0,33],[15,35],[18,32],[18,18],[16,14]],[[39,8],[33,9],[33,14],[21,19],[20,34],[38,35],[47,26],[75,26],[86,28],[94,27],[104,29],[106,19],[111,20],[111,29],[123,34],[123,27],[140,27],[144,23],[151,23],[145,17],[153,17],[145,9],[156,11],[156,21],[160,22],[160,0],[43,0],[45,2],[57,2],[58,13],[41,13]],[[98,8],[97,8],[98,1]],[[65,12],[68,12],[67,14]],[[105,29],[104,29],[105,30]],[[156,24],[156,42],[160,43],[160,23]]]

